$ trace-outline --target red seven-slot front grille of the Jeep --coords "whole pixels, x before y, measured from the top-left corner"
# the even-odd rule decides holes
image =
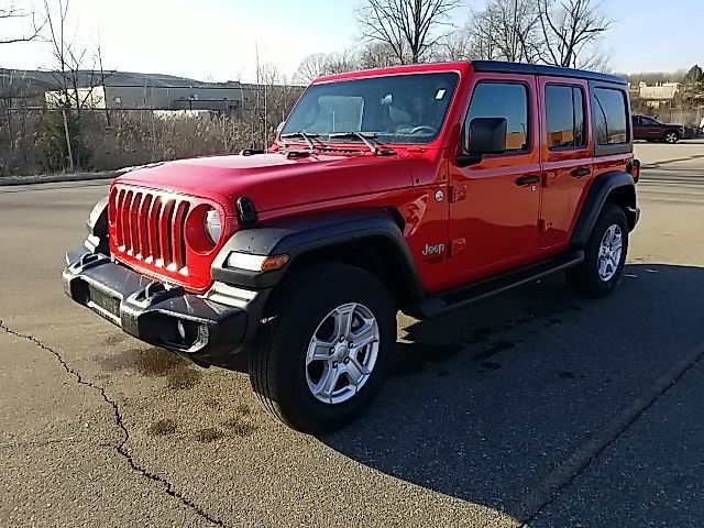
[[[188,275],[185,224],[188,198],[117,187],[111,195],[118,251],[144,264]]]

